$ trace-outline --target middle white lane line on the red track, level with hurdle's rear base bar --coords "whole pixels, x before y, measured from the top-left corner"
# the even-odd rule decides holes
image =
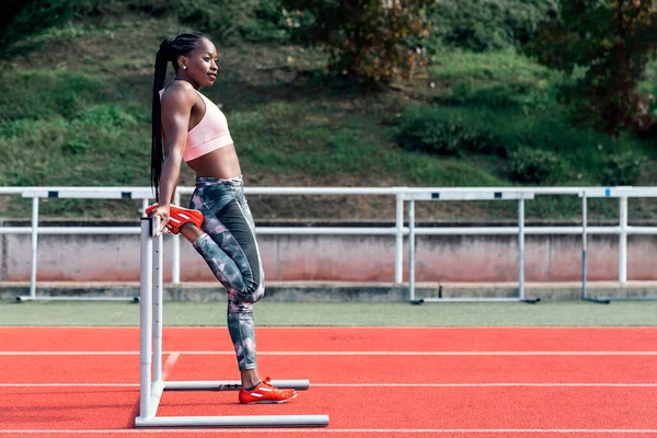
[[[657,383],[312,383],[318,388],[657,388]],[[0,383],[0,388],[139,388],[139,383]]]

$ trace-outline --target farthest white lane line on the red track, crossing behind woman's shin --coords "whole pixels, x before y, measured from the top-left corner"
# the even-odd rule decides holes
[[[164,355],[233,356],[231,350],[162,351]],[[657,356],[657,351],[257,351],[258,356]],[[135,351],[0,351],[0,356],[136,356]]]

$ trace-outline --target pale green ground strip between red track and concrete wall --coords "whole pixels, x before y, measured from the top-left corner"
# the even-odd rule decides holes
[[[165,326],[226,326],[224,302],[165,302]],[[139,304],[0,301],[0,325],[137,326]],[[655,326],[657,302],[301,303],[261,302],[258,326]]]

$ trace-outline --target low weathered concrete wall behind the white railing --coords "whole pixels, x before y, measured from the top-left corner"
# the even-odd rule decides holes
[[[24,223],[22,223],[24,226]],[[134,223],[132,223],[134,226]],[[261,235],[268,280],[392,281],[394,238],[370,235]],[[171,240],[165,238],[165,279],[171,278]],[[592,235],[588,247],[589,280],[618,279],[616,235]],[[629,238],[630,280],[656,280],[657,237]],[[418,237],[418,281],[514,281],[518,273],[512,235]],[[181,241],[183,281],[209,281],[205,262]],[[528,235],[527,281],[581,278],[579,235]],[[0,281],[30,279],[30,235],[0,234]],[[137,281],[138,235],[41,235],[42,281]],[[407,249],[404,247],[404,278]]]

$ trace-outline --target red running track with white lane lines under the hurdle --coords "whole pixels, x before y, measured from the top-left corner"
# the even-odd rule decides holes
[[[166,392],[159,416],[328,414],[322,429],[135,429],[137,328],[0,328],[0,438],[657,437],[657,328],[258,328],[285,405]],[[169,380],[237,380],[226,330],[165,328]]]

